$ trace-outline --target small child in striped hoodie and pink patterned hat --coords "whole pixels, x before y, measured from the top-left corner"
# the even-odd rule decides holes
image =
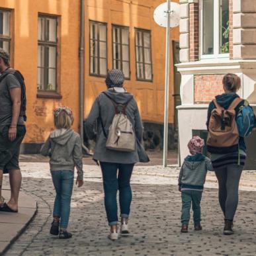
[[[208,157],[202,155],[204,140],[194,136],[188,144],[191,155],[185,158],[179,173],[179,191],[182,198],[181,232],[187,233],[189,229],[191,202],[194,212],[194,230],[202,230],[200,202],[207,171],[213,171],[212,163]]]

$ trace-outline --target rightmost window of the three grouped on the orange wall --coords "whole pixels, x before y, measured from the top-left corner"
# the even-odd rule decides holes
[[[135,37],[137,80],[152,81],[151,32],[136,29]]]

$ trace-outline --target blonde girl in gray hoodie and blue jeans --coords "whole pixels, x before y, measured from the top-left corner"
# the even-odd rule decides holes
[[[54,110],[55,130],[50,134],[41,153],[50,157],[50,171],[56,190],[54,202],[54,220],[50,234],[59,235],[60,239],[71,238],[67,232],[71,195],[73,191],[74,168],[77,168],[76,185],[83,186],[82,147],[79,134],[71,129],[73,114],[68,107]]]

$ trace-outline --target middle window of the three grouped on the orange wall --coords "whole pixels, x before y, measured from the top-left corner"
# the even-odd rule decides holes
[[[121,69],[124,77],[130,79],[129,28],[112,26],[113,68]]]

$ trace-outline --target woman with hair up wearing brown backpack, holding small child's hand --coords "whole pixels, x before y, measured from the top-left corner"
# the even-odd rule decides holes
[[[228,73],[224,76],[222,83],[224,93],[216,96],[216,101],[220,107],[228,109],[233,101],[239,98],[237,91],[241,87],[241,80],[237,75]],[[245,105],[244,100],[235,107],[236,116],[239,112],[239,108],[243,105]],[[210,116],[214,108],[216,108],[216,106],[214,101],[212,101],[208,107],[207,128],[209,127]],[[244,138],[239,138],[237,151],[232,151],[231,153],[211,153],[210,158],[218,179],[219,202],[225,218],[224,234],[231,235],[234,234],[232,227],[238,204],[239,181],[246,159]]]

